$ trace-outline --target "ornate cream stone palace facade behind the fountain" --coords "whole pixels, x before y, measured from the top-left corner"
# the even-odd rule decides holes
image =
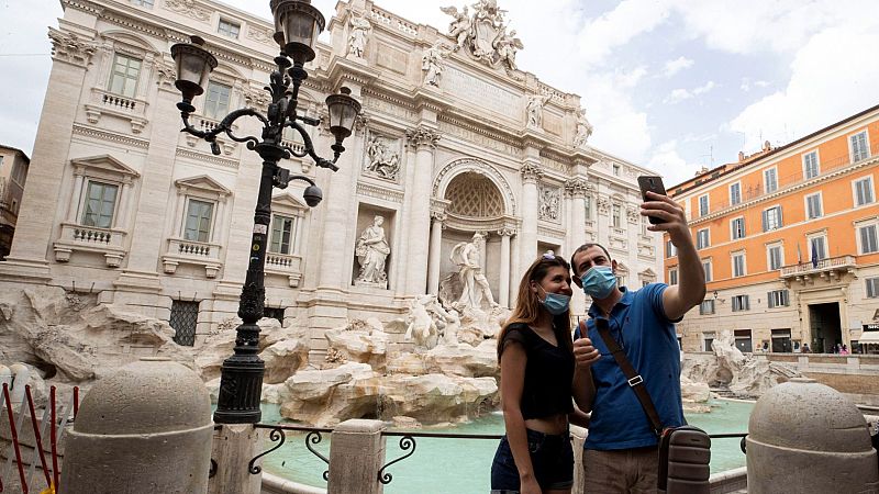
[[[97,292],[170,319],[198,345],[237,310],[260,161],[222,137],[213,156],[179,132],[169,48],[198,34],[220,60],[194,101],[194,125],[211,127],[230,110],[265,109],[272,25],[210,1],[62,3],[35,166],[0,277]],[[325,96],[346,86],[363,116],[337,172],[281,164],[313,178],[324,201],[307,207],[293,184],[274,192],[266,263],[267,315],[299,317],[314,348],[325,328],[390,321],[412,295],[437,293],[457,271],[452,248],[476,232],[502,305],[538,252],[568,256],[585,242],[608,246],[628,285],[660,278],[660,237],[637,214],[636,177],[650,171],[591,147],[580,97],[519,70],[518,40],[474,55],[486,29],[504,34],[499,25],[449,36],[364,0],[340,2],[327,22],[331,44],[307,65],[300,109],[320,117]],[[240,122],[238,134],[258,135]],[[329,154],[329,132],[312,137]],[[355,245],[376,215],[387,281],[358,283]]]

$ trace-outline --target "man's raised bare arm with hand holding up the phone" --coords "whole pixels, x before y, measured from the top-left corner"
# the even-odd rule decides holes
[[[668,232],[671,244],[678,249],[678,284],[663,292],[663,307],[671,321],[683,317],[690,308],[705,297],[705,271],[693,245],[683,207],[666,195],[647,192],[647,202],[641,205],[643,216],[656,216],[663,223],[650,225],[652,232]]]

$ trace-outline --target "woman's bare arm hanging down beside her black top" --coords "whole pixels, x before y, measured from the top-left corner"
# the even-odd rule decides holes
[[[527,355],[519,343],[509,344],[501,358],[501,408],[507,427],[507,440],[513,452],[519,470],[521,492],[541,492],[528,453],[528,438],[525,419],[522,417],[522,391],[525,388],[525,364]],[[527,487],[527,489],[526,489]],[[536,491],[533,489],[536,487]]]

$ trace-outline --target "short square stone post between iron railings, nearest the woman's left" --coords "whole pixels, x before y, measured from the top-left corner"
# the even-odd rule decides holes
[[[378,471],[385,464],[385,439],[381,420],[345,420],[333,429],[330,445],[330,480],[326,492],[333,494],[381,494],[385,485]]]

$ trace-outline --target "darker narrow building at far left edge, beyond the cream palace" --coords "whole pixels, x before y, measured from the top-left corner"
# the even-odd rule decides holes
[[[21,149],[0,145],[0,260],[12,247],[31,158]]]

